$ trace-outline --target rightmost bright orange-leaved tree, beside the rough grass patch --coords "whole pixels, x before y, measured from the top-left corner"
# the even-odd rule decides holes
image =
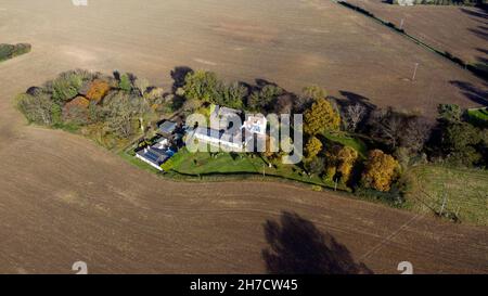
[[[381,150],[373,150],[368,156],[362,173],[362,183],[365,188],[389,191],[391,182],[399,175],[399,168],[400,165],[391,155],[385,154]]]

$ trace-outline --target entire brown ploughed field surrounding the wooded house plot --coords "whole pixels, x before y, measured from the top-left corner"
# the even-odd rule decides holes
[[[488,273],[487,228],[281,183],[167,181],[80,137],[26,126],[12,103],[76,67],[164,85],[174,66],[189,65],[288,89],[312,81],[377,104],[407,98],[410,107],[473,105],[448,81],[479,80],[329,2],[89,4],[0,0],[1,41],[34,46],[0,64],[1,273],[73,273],[78,260],[90,273],[265,272],[264,223],[282,211],[331,233],[375,273],[399,273],[400,261],[418,273]],[[426,66],[411,83],[402,78],[413,61]]]

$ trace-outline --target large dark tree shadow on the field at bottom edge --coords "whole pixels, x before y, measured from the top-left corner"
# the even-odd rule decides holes
[[[280,222],[268,220],[262,249],[267,270],[272,274],[364,274],[373,273],[356,263],[346,246],[297,214],[283,213]]]

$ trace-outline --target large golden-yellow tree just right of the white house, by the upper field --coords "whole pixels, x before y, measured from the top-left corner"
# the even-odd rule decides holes
[[[304,130],[308,134],[317,134],[326,130],[338,130],[341,117],[325,99],[317,100],[312,106],[305,112]]]

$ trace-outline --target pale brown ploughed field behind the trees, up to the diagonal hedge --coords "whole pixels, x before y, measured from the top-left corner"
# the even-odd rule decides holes
[[[196,2],[103,0],[75,7],[70,0],[0,0],[0,36],[2,42],[31,43],[50,64],[44,69],[50,74],[73,66],[117,68],[169,85],[175,66],[190,66],[230,80],[264,78],[292,91],[318,83],[338,98],[343,91],[427,115],[439,103],[476,106],[466,96],[466,83],[487,88],[470,73],[330,1]],[[31,61],[30,66],[25,75],[39,78],[41,65]]]

